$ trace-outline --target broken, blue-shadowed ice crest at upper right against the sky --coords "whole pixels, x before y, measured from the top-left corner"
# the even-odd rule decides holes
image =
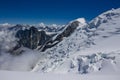
[[[114,21],[114,19],[120,17],[120,8],[108,10],[96,18],[94,18],[89,24],[90,28],[98,28],[102,23],[108,23],[109,21]]]

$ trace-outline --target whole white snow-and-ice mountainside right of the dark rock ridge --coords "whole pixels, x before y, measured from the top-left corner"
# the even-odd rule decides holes
[[[102,71],[107,66],[103,64],[108,64],[119,72],[120,9],[102,13],[88,24],[83,18],[74,21],[79,22],[75,32],[45,51],[45,59],[40,59],[32,71],[83,74]]]

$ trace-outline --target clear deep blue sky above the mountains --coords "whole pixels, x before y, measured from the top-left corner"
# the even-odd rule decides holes
[[[80,17],[90,21],[119,7],[120,0],[0,0],[0,23],[66,24]]]

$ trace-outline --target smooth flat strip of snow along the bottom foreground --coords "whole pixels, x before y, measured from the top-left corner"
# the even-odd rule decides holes
[[[0,80],[120,80],[119,74],[79,75],[0,71]]]

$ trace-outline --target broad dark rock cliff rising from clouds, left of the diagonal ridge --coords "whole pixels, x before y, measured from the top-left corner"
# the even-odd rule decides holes
[[[33,26],[30,29],[19,30],[16,33],[16,37],[19,38],[19,45],[30,49],[36,49],[38,46],[42,47],[52,36],[47,35],[45,31],[38,31]]]

